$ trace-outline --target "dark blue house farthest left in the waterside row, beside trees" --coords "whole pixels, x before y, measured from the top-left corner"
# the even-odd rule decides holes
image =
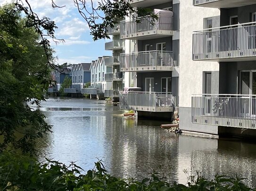
[[[60,89],[61,84],[63,83],[65,77],[72,77],[71,74],[72,67],[69,66],[56,66],[56,69],[53,69],[50,73],[50,78],[56,82],[56,84],[51,85],[48,88],[49,93],[57,93]]]

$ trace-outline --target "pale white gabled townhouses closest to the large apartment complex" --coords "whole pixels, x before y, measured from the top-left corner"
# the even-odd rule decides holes
[[[91,61],[91,85],[81,89],[82,93],[90,94],[91,99],[104,99],[104,91],[106,89],[105,74],[107,71],[105,58],[105,56],[98,57],[96,61]]]

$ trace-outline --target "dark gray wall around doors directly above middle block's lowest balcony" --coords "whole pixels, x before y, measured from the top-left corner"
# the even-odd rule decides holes
[[[142,92],[145,92],[146,77],[154,77],[154,92],[161,92],[161,77],[172,77],[172,72],[138,72],[137,87],[140,87]]]

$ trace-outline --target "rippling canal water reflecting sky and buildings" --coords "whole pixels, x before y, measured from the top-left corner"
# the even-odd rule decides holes
[[[196,172],[211,179],[237,173],[256,187],[254,143],[176,135],[160,121],[125,119],[104,100],[47,99],[41,111],[53,125],[37,144],[41,161],[76,161],[86,171],[100,159],[114,176],[141,180],[156,171],[179,183]]]

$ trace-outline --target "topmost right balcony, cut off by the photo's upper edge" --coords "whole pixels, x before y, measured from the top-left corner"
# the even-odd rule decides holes
[[[193,5],[206,8],[236,8],[255,4],[255,0],[193,0]]]

